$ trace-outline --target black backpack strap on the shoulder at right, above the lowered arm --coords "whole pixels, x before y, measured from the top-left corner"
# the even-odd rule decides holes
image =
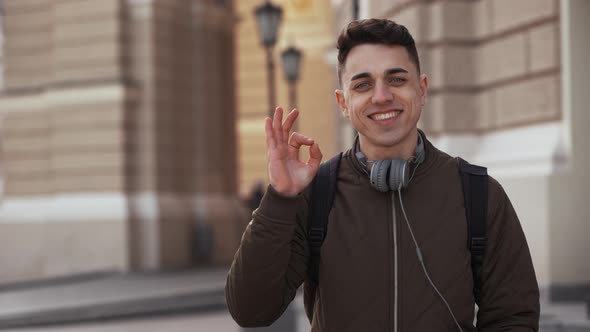
[[[487,168],[472,165],[459,157],[457,157],[457,163],[463,185],[463,199],[468,225],[467,247],[471,251],[473,294],[476,303],[479,303],[482,283],[481,265],[487,241],[488,173]]]

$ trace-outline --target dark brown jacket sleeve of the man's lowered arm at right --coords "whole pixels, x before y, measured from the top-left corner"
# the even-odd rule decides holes
[[[490,178],[488,242],[482,264],[478,331],[538,331],[539,287],[520,221]]]

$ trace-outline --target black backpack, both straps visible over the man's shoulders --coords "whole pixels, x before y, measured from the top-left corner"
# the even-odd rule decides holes
[[[319,264],[322,243],[328,230],[328,216],[338,178],[338,169],[342,153],[320,165],[318,174],[312,182],[310,210],[308,216],[309,265],[305,280],[304,303],[309,321],[313,318],[316,289],[319,282]],[[473,273],[473,294],[476,303],[481,292],[481,264],[486,246],[486,215],[488,206],[488,173],[485,167],[472,165],[457,157],[461,174],[465,213],[469,236],[467,247],[471,251],[471,269]]]

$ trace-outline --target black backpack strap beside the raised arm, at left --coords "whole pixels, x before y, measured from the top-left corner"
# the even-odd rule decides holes
[[[309,243],[309,264],[307,280],[305,282],[305,311],[311,321],[315,294],[319,280],[320,252],[328,231],[328,216],[338,179],[338,169],[342,153],[320,164],[318,174],[311,184],[310,209],[307,221],[307,241]]]

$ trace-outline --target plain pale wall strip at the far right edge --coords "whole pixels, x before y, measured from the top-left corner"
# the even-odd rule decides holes
[[[561,2],[564,17],[562,35],[564,85],[564,159],[567,166],[551,178],[549,243],[551,277],[557,285],[590,284],[590,154],[588,105],[590,95],[590,3],[583,0]],[[583,294],[580,294],[584,296]],[[586,299],[588,295],[586,294]]]

